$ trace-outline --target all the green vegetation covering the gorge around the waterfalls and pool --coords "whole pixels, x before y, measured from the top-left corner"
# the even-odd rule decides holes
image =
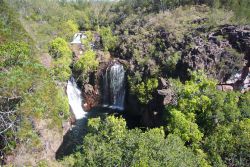
[[[74,73],[89,84],[111,55],[126,62],[127,96],[142,110],[135,115],[160,113],[160,126],[89,119],[72,155],[35,165],[249,166],[250,92],[217,89],[249,51],[244,40],[211,37],[225,25],[249,25],[249,9],[249,0],[0,0],[0,157],[21,146],[30,155],[43,150],[38,122],[56,133],[70,117],[66,81]],[[69,42],[79,30],[87,38],[77,57]],[[171,92],[165,105],[156,100],[159,78]]]

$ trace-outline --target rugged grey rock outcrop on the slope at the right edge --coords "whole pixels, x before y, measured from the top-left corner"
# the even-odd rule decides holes
[[[221,90],[248,89],[250,26],[224,25],[210,33],[192,33],[184,38],[181,46],[184,46],[182,66],[205,70],[219,80]]]

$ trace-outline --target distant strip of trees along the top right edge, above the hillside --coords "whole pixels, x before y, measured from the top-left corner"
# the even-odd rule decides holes
[[[161,12],[171,10],[184,5],[206,4],[214,8],[225,8],[236,13],[237,17],[250,20],[249,0],[121,0],[119,7],[133,12],[144,10],[145,12]]]

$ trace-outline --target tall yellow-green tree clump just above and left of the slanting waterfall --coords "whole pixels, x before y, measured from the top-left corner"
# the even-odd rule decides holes
[[[71,75],[70,64],[72,52],[68,43],[62,38],[56,38],[50,42],[49,53],[54,58],[53,74],[60,81],[66,81]]]

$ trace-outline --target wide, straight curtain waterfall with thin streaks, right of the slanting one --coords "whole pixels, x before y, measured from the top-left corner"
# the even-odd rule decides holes
[[[104,106],[123,110],[124,98],[125,70],[121,64],[115,63],[106,69],[104,76]]]

